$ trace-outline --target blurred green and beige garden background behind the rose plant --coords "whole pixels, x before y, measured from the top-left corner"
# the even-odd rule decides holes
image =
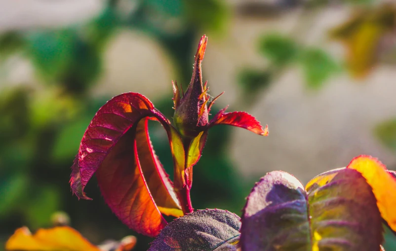
[[[394,0],[0,0],[0,250],[56,212],[94,244],[133,234],[147,250],[95,179],[93,201],[72,196],[70,167],[113,96],[142,93],[171,118],[171,80],[187,87],[203,34],[203,79],[211,96],[225,91],[213,112],[245,110],[270,135],[213,128],[194,168],[196,209],[240,215],[273,170],[306,183],[360,154],[396,168]],[[150,126],[172,174],[165,131]]]

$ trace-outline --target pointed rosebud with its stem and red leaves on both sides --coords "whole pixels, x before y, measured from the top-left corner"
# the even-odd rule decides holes
[[[173,120],[170,125],[153,104],[138,93],[124,93],[99,109],[84,133],[72,167],[70,184],[83,199],[88,180],[96,173],[99,187],[112,211],[135,231],[156,236],[166,221],[194,211],[190,199],[193,165],[201,155],[207,130],[228,124],[267,136],[267,127],[246,112],[221,110],[208,123],[207,84],[202,84],[201,62],[207,45],[202,36],[188,89],[182,97],[174,83]],[[157,120],[168,135],[174,162],[174,184],[168,179],[150,142],[147,120]]]

